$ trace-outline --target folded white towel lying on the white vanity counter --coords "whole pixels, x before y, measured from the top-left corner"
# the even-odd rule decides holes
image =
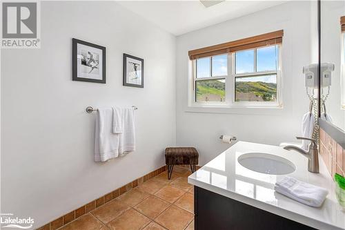
[[[311,207],[320,207],[328,194],[324,188],[287,176],[275,183],[275,191]]]

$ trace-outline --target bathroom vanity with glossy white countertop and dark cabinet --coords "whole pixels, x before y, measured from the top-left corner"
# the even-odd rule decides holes
[[[319,170],[308,172],[307,158],[295,151],[237,142],[188,177],[195,189],[195,229],[345,229],[345,215],[322,160]],[[284,175],[327,189],[322,207],[276,193],[275,182]]]

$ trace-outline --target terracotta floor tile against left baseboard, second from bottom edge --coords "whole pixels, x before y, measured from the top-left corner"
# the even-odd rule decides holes
[[[128,209],[130,209],[130,207],[127,204],[124,204],[124,202],[121,202],[119,200],[112,200],[104,204],[102,207],[99,207],[99,209],[92,211],[91,213],[92,215],[95,215],[95,217],[97,217],[99,220],[101,220],[101,222],[106,224],[111,220],[117,218]]]

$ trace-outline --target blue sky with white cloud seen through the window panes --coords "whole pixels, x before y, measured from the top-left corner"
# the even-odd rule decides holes
[[[267,46],[257,49],[257,71],[276,70],[277,69],[277,46]],[[254,72],[254,50],[244,50],[236,53],[236,73]],[[218,55],[212,58],[213,69],[212,75],[224,76],[227,75],[227,55]],[[197,77],[210,77],[210,57],[201,58],[197,60]],[[246,77],[239,79],[241,82],[248,81],[262,81],[277,83],[275,75],[268,75],[264,77],[254,78]]]

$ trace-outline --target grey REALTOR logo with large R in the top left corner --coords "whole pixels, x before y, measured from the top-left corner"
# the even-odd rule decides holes
[[[40,48],[39,2],[2,2],[1,48]]]

